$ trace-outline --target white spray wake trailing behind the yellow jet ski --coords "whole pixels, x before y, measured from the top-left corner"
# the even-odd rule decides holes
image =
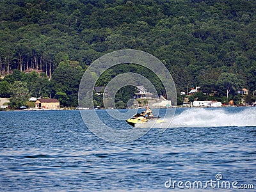
[[[242,110],[192,108],[164,118],[161,124],[147,124],[147,127],[244,127],[256,126],[256,108]]]

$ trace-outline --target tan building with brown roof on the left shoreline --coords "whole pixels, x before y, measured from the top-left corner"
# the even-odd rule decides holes
[[[35,102],[36,109],[60,109],[58,99],[38,99]]]

